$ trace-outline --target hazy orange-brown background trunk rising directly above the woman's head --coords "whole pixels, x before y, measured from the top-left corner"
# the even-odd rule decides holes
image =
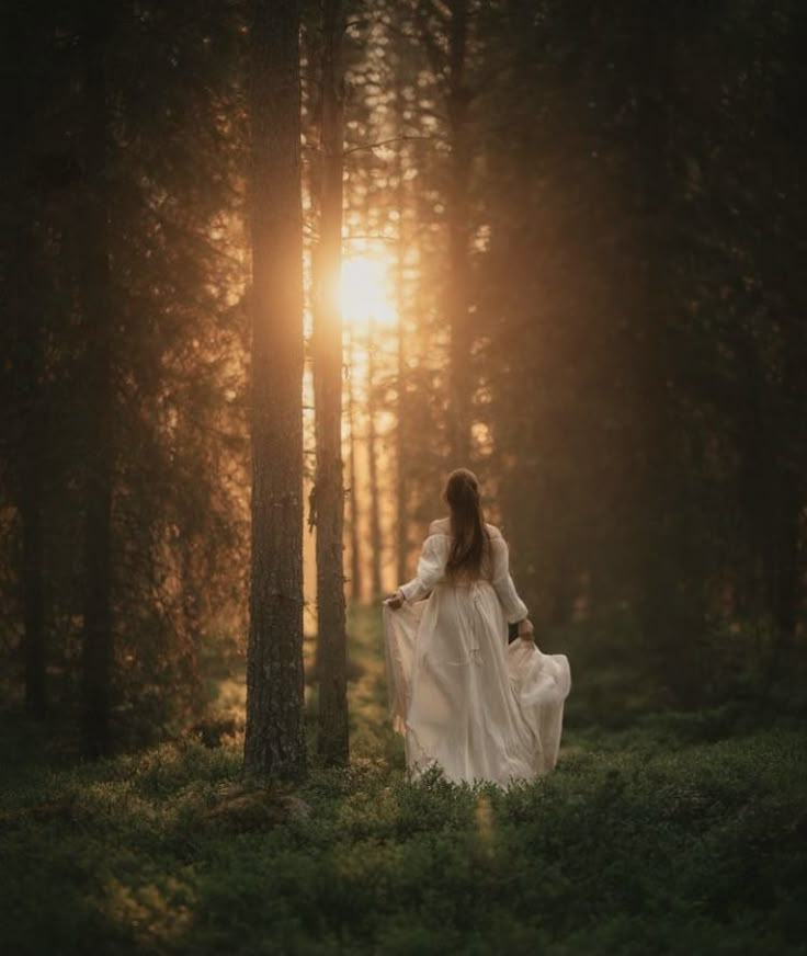
[[[468,139],[469,90],[466,84],[468,0],[451,0],[448,23],[448,328],[451,332],[448,425],[454,465],[470,455],[471,334],[468,312]]]

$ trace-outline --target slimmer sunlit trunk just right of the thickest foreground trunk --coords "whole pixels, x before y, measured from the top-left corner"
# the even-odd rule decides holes
[[[344,764],[348,739],[348,641],[344,612],[342,476],[342,36],[341,0],[326,0],[322,42],[322,178],[316,258],[314,396],[317,433],[317,621],[319,753]]]

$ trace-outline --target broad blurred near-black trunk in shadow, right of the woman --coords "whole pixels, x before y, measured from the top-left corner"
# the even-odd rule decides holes
[[[683,24],[678,4],[663,12],[637,8],[634,36],[636,84],[641,91],[634,135],[635,175],[626,183],[634,196],[636,232],[630,272],[637,289],[635,315],[637,405],[637,515],[641,521],[638,569],[639,626],[648,659],[681,704],[696,694],[696,653],[703,608],[687,544],[690,502],[680,477],[680,424],[675,384],[680,358],[671,276],[678,249],[674,214],[675,182],[670,171],[675,84],[671,82],[673,50]],[[674,662],[674,665],[672,665]]]

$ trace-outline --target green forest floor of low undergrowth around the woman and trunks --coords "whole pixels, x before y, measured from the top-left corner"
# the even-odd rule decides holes
[[[54,765],[0,730],[0,951],[807,953],[807,741],[726,713],[586,722],[504,793],[406,782],[379,619],[353,617],[353,759],[257,787],[237,741]],[[20,732],[29,738],[20,747]],[[12,732],[13,731],[13,732]]]

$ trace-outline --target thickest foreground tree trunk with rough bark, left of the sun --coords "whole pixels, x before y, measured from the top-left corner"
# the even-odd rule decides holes
[[[306,771],[303,675],[303,227],[299,9],[253,0],[252,559],[245,765]]]

